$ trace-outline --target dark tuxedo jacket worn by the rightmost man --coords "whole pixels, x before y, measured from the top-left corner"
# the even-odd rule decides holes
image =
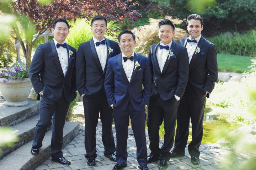
[[[187,38],[180,39],[179,44],[186,46]],[[194,98],[204,98],[206,92],[211,93],[218,79],[217,52],[213,43],[201,36],[198,45],[199,53],[193,53],[189,64],[187,91]]]

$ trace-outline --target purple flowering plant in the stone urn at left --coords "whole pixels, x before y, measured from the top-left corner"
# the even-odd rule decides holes
[[[2,62],[0,61],[0,63]],[[20,80],[28,77],[28,68],[25,66],[24,63],[15,62],[14,70],[9,67],[0,68],[0,78],[5,78],[2,81],[3,83],[7,83],[13,79]]]

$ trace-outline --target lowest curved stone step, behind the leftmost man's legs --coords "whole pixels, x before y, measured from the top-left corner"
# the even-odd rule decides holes
[[[63,135],[63,148],[71,142],[79,132],[78,122],[65,122]],[[16,149],[2,160],[0,160],[1,170],[33,170],[38,165],[41,165],[47,160],[50,155],[50,143],[52,137],[52,130],[46,132],[43,139],[43,146],[40,148],[40,153],[36,156],[31,155],[30,149],[33,140]]]

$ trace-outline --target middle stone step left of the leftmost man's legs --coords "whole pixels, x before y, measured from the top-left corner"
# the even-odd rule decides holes
[[[12,133],[18,136],[18,141],[11,148],[10,147],[1,148],[2,152],[0,153],[0,160],[5,155],[11,153],[12,151],[16,150],[17,148],[20,148],[24,144],[34,139],[34,131],[35,131],[38,120],[39,120],[39,114],[11,127]]]

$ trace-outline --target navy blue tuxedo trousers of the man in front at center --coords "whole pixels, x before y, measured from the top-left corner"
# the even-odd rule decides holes
[[[117,138],[117,163],[123,164],[127,161],[127,138],[130,117],[137,147],[137,161],[141,167],[145,167],[147,165],[145,108],[136,111],[129,102],[126,110],[120,111],[118,108],[114,108],[113,111]]]

